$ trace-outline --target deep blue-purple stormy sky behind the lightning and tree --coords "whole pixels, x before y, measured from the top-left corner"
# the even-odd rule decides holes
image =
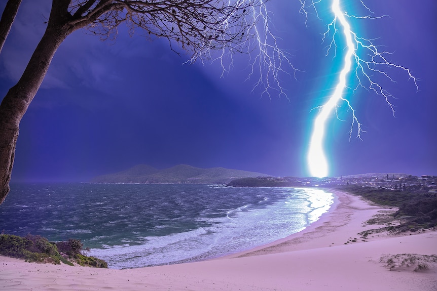
[[[349,142],[350,122],[331,120],[326,139],[330,176],[437,175],[437,2],[365,3],[375,15],[390,17],[360,21],[355,30],[379,37],[376,43],[393,52],[390,60],[420,79],[420,91],[403,72],[390,72],[397,82],[386,89],[396,97],[396,117],[381,96],[356,92],[350,100],[367,133]],[[0,54],[0,96],[24,70],[44,32],[50,4],[23,1]],[[297,81],[281,76],[289,100],[252,92],[256,78],[245,81],[248,55],[235,56],[232,70],[220,78],[217,62],[183,65],[188,55],[178,56],[161,39],[146,40],[141,31],[130,37],[123,25],[116,41],[76,31],[56,53],[21,121],[13,181],[87,181],[139,163],[308,176],[306,151],[316,113],[311,109],[329,96],[340,60],[325,57],[321,44],[331,20],[319,11],[323,20],[310,15],[307,28],[299,1],[268,5],[275,12],[279,46],[305,71]],[[4,6],[0,3],[0,11]]]

